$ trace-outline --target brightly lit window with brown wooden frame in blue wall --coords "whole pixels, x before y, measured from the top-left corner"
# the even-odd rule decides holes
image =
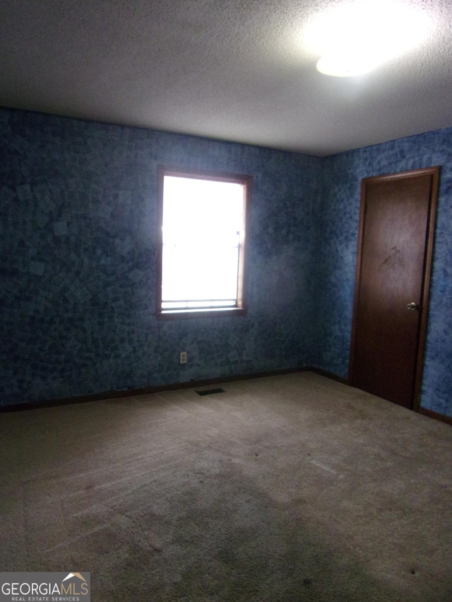
[[[161,167],[159,186],[157,315],[244,314],[251,177]]]

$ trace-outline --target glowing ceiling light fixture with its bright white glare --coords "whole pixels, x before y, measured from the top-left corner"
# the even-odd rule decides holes
[[[321,56],[317,63],[321,73],[350,77],[420,44],[428,30],[429,19],[415,6],[363,0],[321,14],[309,26],[304,42]]]

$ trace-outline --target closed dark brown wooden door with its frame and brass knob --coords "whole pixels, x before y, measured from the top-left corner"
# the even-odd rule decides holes
[[[439,168],[363,179],[350,384],[418,408]]]

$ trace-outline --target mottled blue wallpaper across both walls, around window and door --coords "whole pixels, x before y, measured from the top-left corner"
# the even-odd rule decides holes
[[[360,181],[441,165],[422,406],[452,416],[452,130],[321,159],[2,109],[0,148],[1,405],[297,366],[346,377]],[[254,177],[245,317],[156,320],[159,164]]]

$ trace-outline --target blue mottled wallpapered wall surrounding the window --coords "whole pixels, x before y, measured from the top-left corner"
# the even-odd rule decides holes
[[[309,363],[321,159],[8,109],[0,149],[1,404]],[[254,176],[246,317],[155,319],[158,164]]]

